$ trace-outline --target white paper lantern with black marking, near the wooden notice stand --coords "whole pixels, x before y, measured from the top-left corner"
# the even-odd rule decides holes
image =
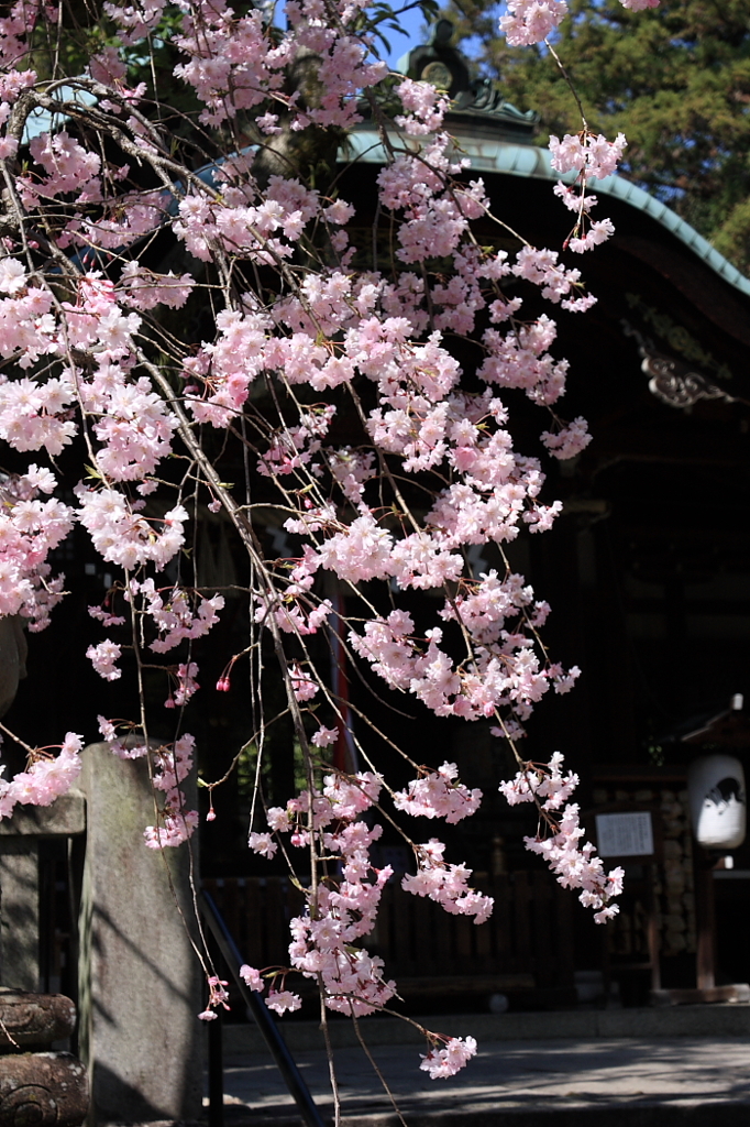
[[[693,832],[705,849],[736,849],[744,841],[744,771],[733,755],[703,755],[688,771]]]

